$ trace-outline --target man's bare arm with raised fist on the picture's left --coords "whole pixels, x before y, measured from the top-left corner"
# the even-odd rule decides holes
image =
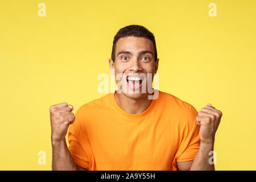
[[[71,112],[73,106],[66,102],[53,105],[49,108],[51,118],[52,140],[52,170],[86,171],[87,169],[76,166],[65,140],[68,126],[75,121]]]

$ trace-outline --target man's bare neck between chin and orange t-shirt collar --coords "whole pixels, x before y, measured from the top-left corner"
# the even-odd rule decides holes
[[[148,94],[138,99],[129,98],[123,93],[114,93],[114,96],[117,104],[129,114],[142,113],[152,102],[152,100],[148,100]]]

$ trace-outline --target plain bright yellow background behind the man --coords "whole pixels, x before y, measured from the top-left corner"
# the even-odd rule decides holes
[[[38,4],[46,4],[46,17]],[[217,16],[210,17],[209,3]],[[0,1],[2,170],[51,170],[49,106],[74,112],[105,94],[100,73],[119,28],[154,33],[159,89],[222,111],[217,170],[255,170],[255,1]],[[46,151],[46,165],[38,152]]]

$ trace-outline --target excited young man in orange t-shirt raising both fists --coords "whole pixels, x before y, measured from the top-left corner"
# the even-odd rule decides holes
[[[197,113],[172,94],[142,92],[158,63],[150,31],[131,25],[117,32],[109,67],[118,90],[82,105],[76,117],[67,103],[49,109],[53,170],[214,170],[208,154],[221,111],[208,104]]]

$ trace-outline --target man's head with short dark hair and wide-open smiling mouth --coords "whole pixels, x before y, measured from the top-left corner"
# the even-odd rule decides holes
[[[154,35],[143,26],[130,25],[121,28],[114,37],[112,59],[109,59],[109,67],[115,75],[117,85],[122,79],[117,79],[118,75],[127,76],[127,88],[122,88],[125,96],[138,99],[146,96],[142,92],[143,84],[152,84],[152,79],[148,80],[148,75],[154,77],[158,70],[156,44]],[[142,78],[141,75],[146,75]],[[137,81],[142,79],[140,81]],[[139,90],[139,92],[124,91],[127,89]]]

